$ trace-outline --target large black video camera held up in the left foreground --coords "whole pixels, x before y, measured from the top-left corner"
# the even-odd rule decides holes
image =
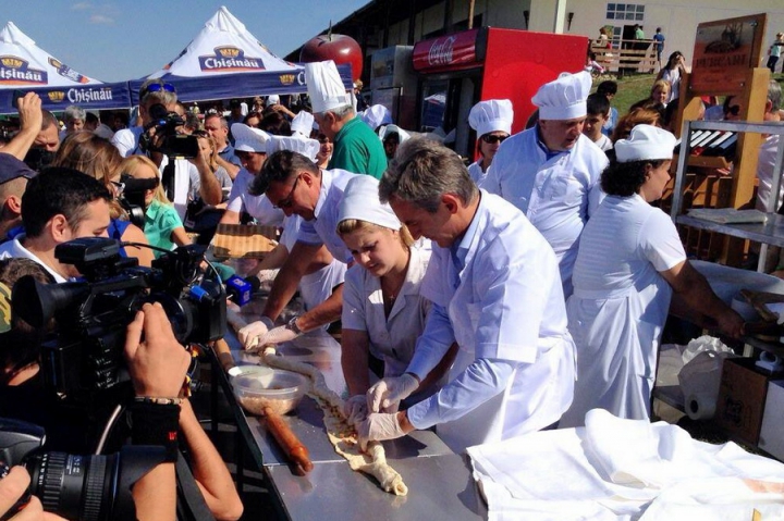
[[[120,244],[86,237],[58,245],[54,257],[74,264],[83,282],[41,284],[32,276],[13,288],[14,313],[34,327],[57,319],[56,332],[41,345],[47,387],[62,399],[85,401],[96,390],[130,382],[123,358],[126,326],[146,302],[160,302],[181,344],[222,338],[226,295],[219,277],[199,264],[206,247],[169,251],[152,268],[120,256]]]

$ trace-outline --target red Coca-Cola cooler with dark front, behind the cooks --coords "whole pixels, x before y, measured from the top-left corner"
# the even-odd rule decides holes
[[[479,101],[509,99],[512,132],[525,128],[537,89],[562,72],[581,71],[587,36],[478,27],[414,46],[418,75],[416,131],[448,136],[463,157],[474,157],[476,135],[468,112]]]

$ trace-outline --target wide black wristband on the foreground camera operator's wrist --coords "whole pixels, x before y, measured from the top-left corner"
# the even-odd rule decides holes
[[[171,400],[172,398],[163,398]],[[131,406],[133,427],[131,439],[134,445],[157,445],[166,449],[166,462],[177,460],[177,427],[180,406],[149,400],[134,401]]]

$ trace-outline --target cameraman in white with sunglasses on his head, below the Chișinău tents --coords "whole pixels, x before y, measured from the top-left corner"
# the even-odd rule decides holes
[[[158,124],[159,121],[152,115],[163,111],[168,114],[175,114],[177,99],[174,87],[160,78],[148,79],[142,84],[139,99],[139,117],[143,126],[119,131],[112,137],[111,142],[123,157],[148,156],[161,171],[164,184],[168,183],[163,175],[167,165],[173,161],[173,187],[169,198],[172,199],[180,219],[185,218],[188,201],[195,200],[197,196],[200,196],[207,204],[220,203],[222,198],[220,183],[200,154],[196,153],[194,158],[186,160],[169,158],[160,152],[167,137],[166,134],[170,129],[163,132],[166,125],[161,127]],[[156,114],[151,114],[151,112]],[[145,148],[145,142],[148,144],[147,148]]]

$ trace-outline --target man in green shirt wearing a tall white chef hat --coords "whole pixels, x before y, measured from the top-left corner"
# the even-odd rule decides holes
[[[356,116],[334,62],[305,65],[305,80],[319,131],[333,144],[328,169],[381,178],[387,154],[376,133]]]

